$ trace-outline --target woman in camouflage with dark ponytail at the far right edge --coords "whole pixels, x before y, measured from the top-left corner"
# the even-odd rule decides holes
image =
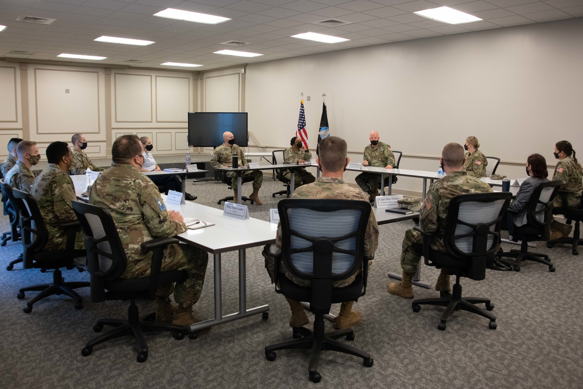
[[[554,168],[553,181],[560,180],[560,190],[568,190],[567,200],[570,207],[581,205],[581,192],[583,192],[583,170],[581,164],[575,157],[575,150],[568,141],[559,141],[554,145],[554,157],[559,159]],[[553,213],[561,214],[559,209],[563,206],[563,199],[560,193],[554,198]],[[560,223],[557,220],[551,224],[551,239],[567,238],[571,232],[571,225]]]

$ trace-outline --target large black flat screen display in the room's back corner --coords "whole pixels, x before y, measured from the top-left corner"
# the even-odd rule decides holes
[[[229,131],[235,144],[247,147],[247,112],[189,112],[188,145],[216,147],[224,143],[223,133]]]

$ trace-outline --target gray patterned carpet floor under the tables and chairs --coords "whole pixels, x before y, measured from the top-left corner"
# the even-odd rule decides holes
[[[251,192],[249,184],[244,194]],[[269,220],[269,209],[282,189],[265,177],[262,206],[250,205],[251,217]],[[188,183],[197,202],[218,207],[216,200],[230,192],[218,182]],[[249,193],[248,193],[249,192]],[[8,230],[8,218],[0,227]],[[264,347],[291,338],[289,308],[276,294],[264,269],[261,248],[247,251],[248,307],[269,304],[269,319],[261,315],[213,327],[198,339],[176,341],[169,333],[147,335],[149,357],[137,363],[136,343],[123,337],[80,353],[96,334],[99,318],[124,318],[128,303],[89,303],[89,289],[79,289],[86,299],[82,310],[61,296],[45,298],[24,314],[25,303],[16,298],[19,287],[50,282],[50,273],[8,272],[6,264],[22,251],[19,242],[0,248],[0,387],[2,388],[582,388],[583,387],[583,256],[571,255],[570,246],[537,251],[549,253],[557,270],[534,262],[521,272],[487,270],[486,279],[462,279],[464,296],[490,297],[496,306],[498,328],[465,311],[454,312],[446,331],[437,324],[443,308],[423,306],[415,313],[411,301],[387,293],[387,273],[400,272],[403,232],[411,221],[380,226],[380,244],[371,268],[366,296],[354,308],[363,315],[354,327],[354,346],[374,357],[364,367],[356,357],[325,351],[318,371],[319,384],[308,380],[308,354],[301,350],[278,352],[274,362]],[[229,239],[228,236],[225,239]],[[505,249],[518,246],[503,244]],[[237,256],[223,255],[223,314],[237,311]],[[65,280],[89,280],[87,272],[64,270]],[[424,266],[422,278],[434,283],[438,270]],[[213,316],[213,269],[209,263],[201,300],[195,305],[203,319]],[[27,293],[27,298],[34,293]],[[417,298],[437,297],[433,289],[415,287]],[[140,301],[141,314],[153,311],[151,301]],[[338,305],[332,307],[338,311]],[[308,314],[308,317],[311,317]],[[332,324],[326,327],[332,329]],[[346,341],[344,341],[346,342]]]

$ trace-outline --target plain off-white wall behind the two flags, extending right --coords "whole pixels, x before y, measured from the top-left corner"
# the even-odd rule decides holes
[[[249,128],[262,145],[289,144],[303,92],[315,147],[325,92],[331,134],[349,150],[378,130],[408,156],[402,168],[437,171],[445,143],[477,136],[484,154],[507,162],[498,173],[524,176],[533,152],[554,165],[559,140],[583,150],[582,36],[578,18],[249,64]],[[420,181],[399,178],[399,188]]]

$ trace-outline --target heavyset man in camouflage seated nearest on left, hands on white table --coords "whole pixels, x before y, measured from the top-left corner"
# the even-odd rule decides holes
[[[113,166],[99,175],[91,188],[89,203],[110,211],[127,256],[122,279],[148,277],[152,251],[141,244],[154,238],[174,237],[187,231],[182,215],[168,212],[158,187],[140,172],[144,163],[142,143],[135,135],[124,135],[111,147]],[[184,270],[183,283],[160,286],[156,291],[156,320],[177,325],[191,325],[200,319],[192,306],[201,296],[205,282],[208,253],[189,245],[168,245],[164,249],[161,272]],[[174,301],[170,304],[174,291]]]

